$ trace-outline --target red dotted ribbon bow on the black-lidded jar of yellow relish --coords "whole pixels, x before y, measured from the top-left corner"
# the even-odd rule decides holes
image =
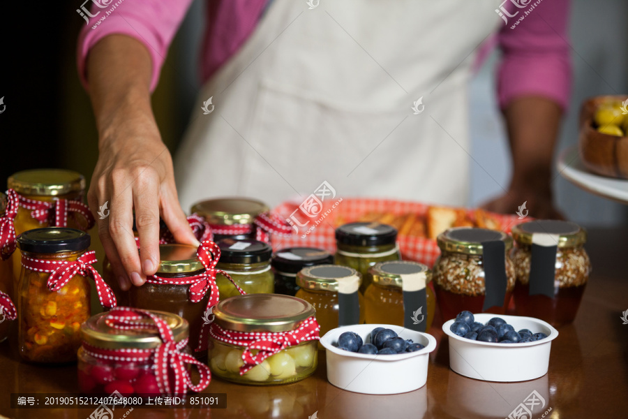
[[[86,251],[77,260],[48,260],[35,259],[24,256],[22,253],[22,266],[29,270],[49,273],[47,286],[52,292],[59,291],[68,281],[76,275],[91,277],[96,283],[98,300],[103,307],[116,307],[116,297],[109,286],[100,277],[100,274],[92,264],[96,263],[96,252]]]

